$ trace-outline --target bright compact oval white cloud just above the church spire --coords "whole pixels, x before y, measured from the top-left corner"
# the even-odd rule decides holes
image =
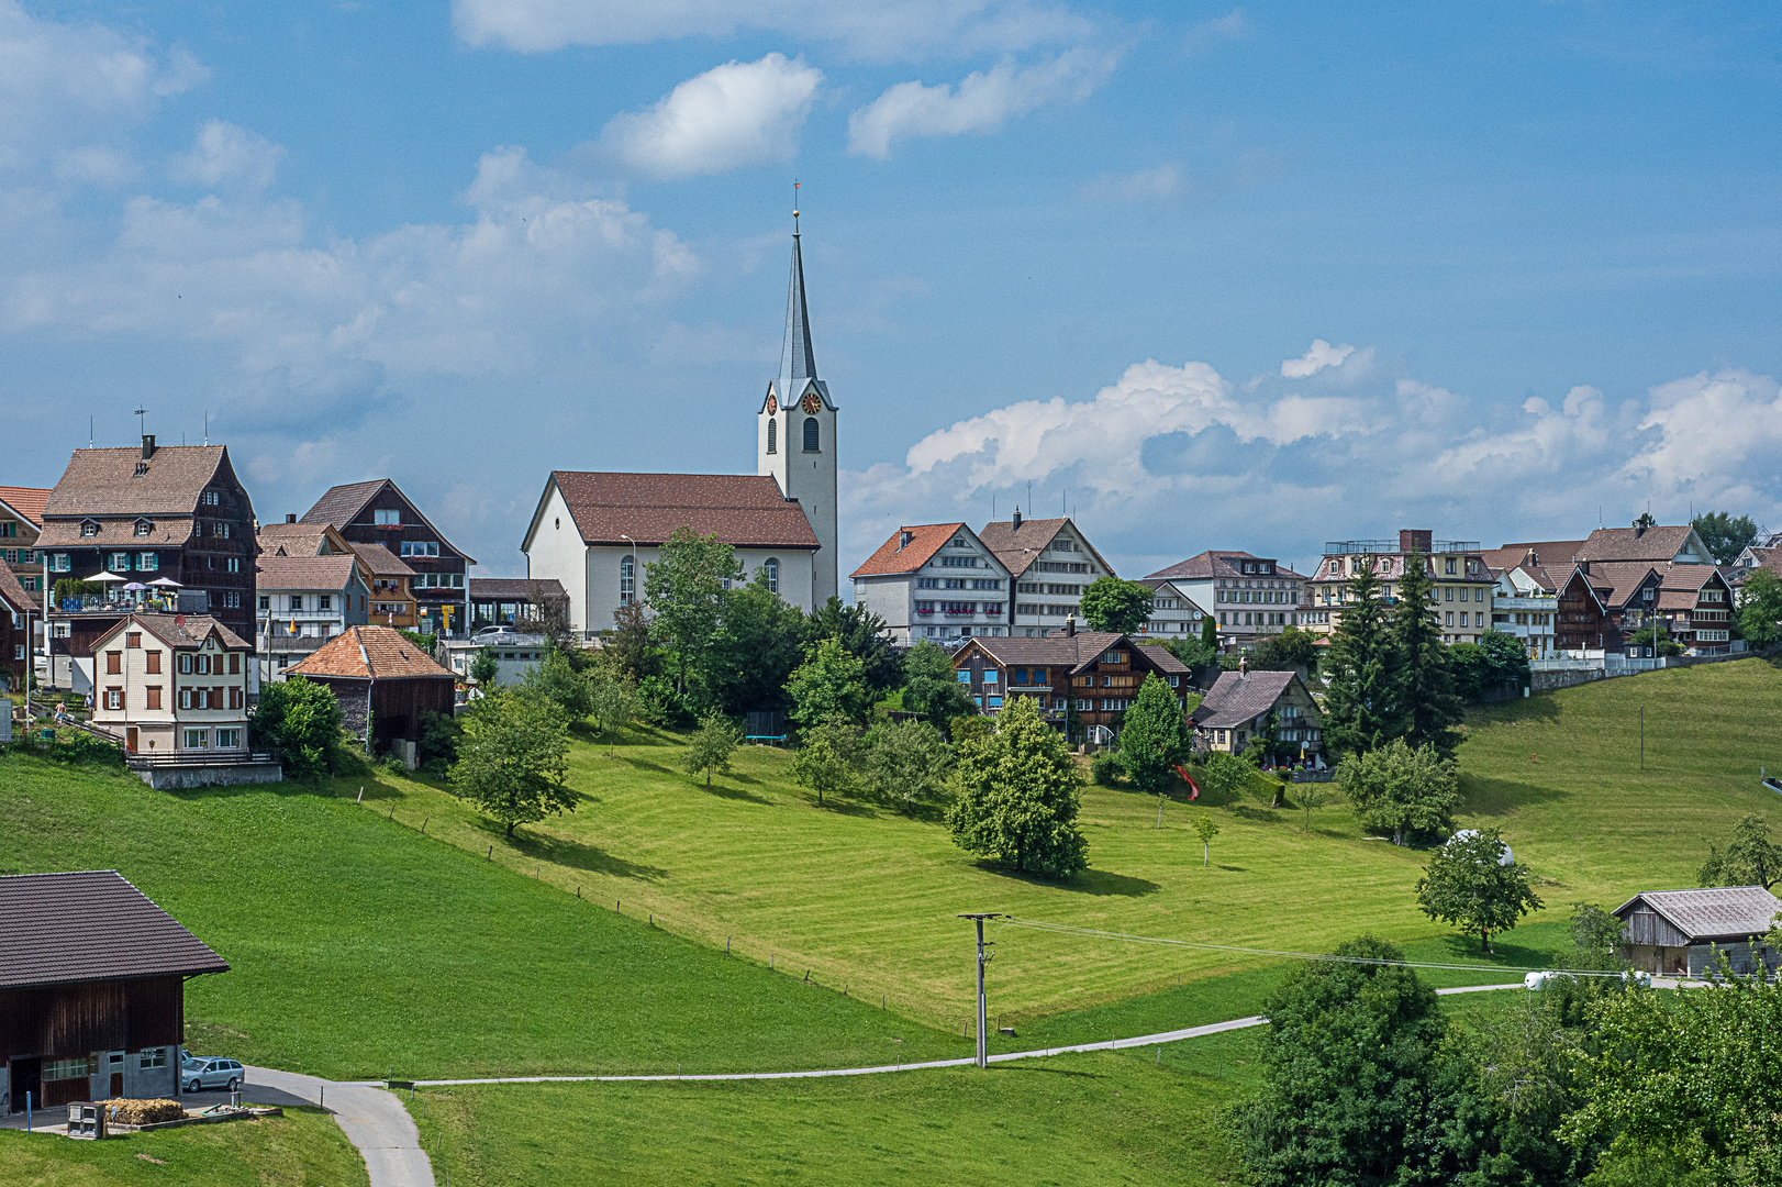
[[[649,111],[615,116],[602,134],[627,166],[652,176],[723,173],[798,151],[798,130],[823,71],[768,53],[688,78]]]

